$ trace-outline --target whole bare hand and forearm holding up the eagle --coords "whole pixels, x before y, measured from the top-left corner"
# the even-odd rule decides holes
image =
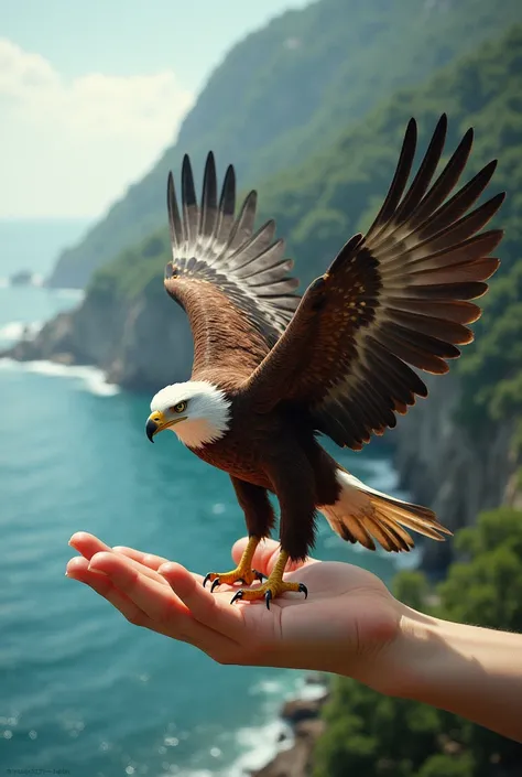
[[[522,742],[522,635],[432,618],[398,602],[373,574],[307,559],[286,580],[309,589],[230,606],[181,564],[86,532],[66,574],[108,600],[131,624],[189,643],[219,663],[287,667],[352,677],[381,693],[422,701]],[[247,539],[232,548],[238,563]],[[270,574],[279,554],[262,542],[253,565]],[[225,589],[225,586],[221,586]]]

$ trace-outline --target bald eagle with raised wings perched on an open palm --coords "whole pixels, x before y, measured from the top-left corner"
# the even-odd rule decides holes
[[[233,165],[218,192],[208,154],[198,203],[185,155],[181,208],[168,174],[173,258],[164,284],[188,316],[194,363],[188,381],[153,397],[145,432],[153,442],[170,429],[229,474],[249,541],[237,569],[210,572],[204,584],[239,583],[232,603],[270,607],[285,592],[307,595],[283,572],[308,554],[318,512],[344,540],[369,550],[410,551],[411,530],[434,540],[452,533],[427,507],[365,485],[319,442],[326,435],[360,451],[427,396],[423,371],[447,373],[458,346],[474,339],[468,324],[481,309],[471,300],[487,291],[499,267],[490,253],[502,238],[501,229],[482,228],[504,193],[477,204],[497,160],[457,185],[472,128],[435,177],[446,134],[443,115],[413,175],[417,123],[410,120],[372,225],[348,239],[302,296],[274,220],[254,229],[255,191],[236,215]],[[252,558],[275,525],[270,495],[280,508],[280,554],[264,579]]]

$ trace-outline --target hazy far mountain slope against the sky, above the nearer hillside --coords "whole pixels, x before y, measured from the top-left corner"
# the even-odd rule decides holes
[[[178,141],[79,246],[64,252],[51,284],[84,285],[96,268],[163,225],[166,174],[178,172],[185,151],[196,171],[213,149],[221,171],[233,162],[243,186],[260,184],[267,171],[329,148],[341,128],[398,87],[423,82],[514,21],[522,21],[519,0],[503,0],[501,13],[488,0],[320,0],[273,20],[230,51]],[[389,128],[401,130],[396,121]],[[392,140],[388,133],[385,144]],[[372,175],[372,169],[361,170]],[[318,234],[335,240],[344,225],[333,214],[323,216]]]

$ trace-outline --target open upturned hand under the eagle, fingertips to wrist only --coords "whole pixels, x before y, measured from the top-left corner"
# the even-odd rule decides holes
[[[131,548],[109,548],[85,532],[70,539],[80,557],[67,575],[89,585],[137,626],[189,643],[220,663],[337,672],[393,693],[400,682],[402,620],[407,609],[370,572],[342,562],[307,560],[285,574],[308,598],[286,594],[230,604],[229,586],[211,594],[203,576]],[[247,539],[232,548],[237,563]],[[279,553],[260,543],[253,566],[270,574]]]

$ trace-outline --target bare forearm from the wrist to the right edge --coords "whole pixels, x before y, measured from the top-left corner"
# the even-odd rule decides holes
[[[522,635],[403,617],[398,695],[461,715],[522,742]]]

